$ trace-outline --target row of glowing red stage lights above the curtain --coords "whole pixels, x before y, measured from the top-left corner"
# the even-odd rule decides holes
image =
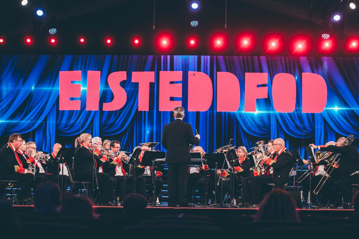
[[[24,41],[26,45],[33,45],[34,43],[33,38],[29,36],[25,37]],[[87,40],[85,37],[79,37],[78,42],[80,45],[86,45]],[[139,48],[143,45],[140,37],[133,37],[131,42],[135,48]],[[4,43],[5,39],[0,37],[0,45],[3,45]],[[52,46],[56,46],[57,38],[50,37],[49,43]],[[193,50],[199,47],[199,43],[199,38],[195,36],[188,37],[186,40],[187,47]],[[107,37],[104,39],[104,44],[111,47],[115,42],[113,38]],[[170,34],[162,33],[156,37],[155,45],[159,51],[170,51],[174,46],[174,39]],[[250,52],[255,48],[255,45],[256,40],[253,34],[243,33],[237,37],[236,48],[238,51]],[[224,34],[215,34],[210,38],[210,47],[213,51],[224,51],[227,46],[228,39]],[[266,54],[278,54],[284,49],[284,46],[285,42],[281,35],[269,35],[265,37],[263,41],[263,49]],[[328,39],[322,38],[318,41],[317,47],[320,53],[331,53],[336,50],[336,41],[332,37]],[[308,36],[297,36],[289,41],[289,48],[292,54],[304,55],[311,51],[312,46]],[[359,52],[359,39],[354,37],[348,38],[345,43],[345,50],[349,52]]]

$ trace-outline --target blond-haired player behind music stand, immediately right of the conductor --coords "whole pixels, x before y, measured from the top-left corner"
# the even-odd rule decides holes
[[[205,155],[205,151],[201,146],[196,146],[192,149],[192,153],[201,153],[201,157],[203,158]],[[188,180],[188,201],[192,198],[193,189],[196,187],[200,196],[200,205],[205,205],[205,189],[206,189],[206,181],[207,185],[211,185],[211,173],[206,165],[207,174],[205,174],[205,166],[202,167],[190,167],[190,176]],[[207,179],[205,180],[205,176],[207,175]],[[191,201],[190,201],[191,202]]]

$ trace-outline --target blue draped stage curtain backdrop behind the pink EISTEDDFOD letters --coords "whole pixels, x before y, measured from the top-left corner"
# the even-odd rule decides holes
[[[81,110],[59,111],[59,71],[81,70]],[[99,111],[86,111],[87,71],[101,71]],[[98,56],[98,55],[1,55],[0,56],[0,135],[25,134],[33,130],[33,141],[51,152],[59,138],[82,132],[103,139],[118,139],[123,150],[132,151],[141,142],[160,142],[163,126],[173,120],[172,112],[158,111],[159,72],[183,72],[182,106],[187,109],[188,72],[203,72],[212,80],[213,100],[205,112],[187,112],[185,121],[201,134],[200,145],[207,152],[233,144],[253,147],[256,141],[283,137],[288,148],[304,156],[305,144],[324,144],[337,137],[359,137],[359,58],[268,57],[268,56]],[[107,83],[110,73],[126,71],[121,82],[127,101],[117,111],[102,111],[113,94]],[[150,83],[149,111],[138,111],[138,83],[132,72],[154,71]],[[216,112],[217,72],[236,75],[241,101],[236,112]],[[258,112],[244,112],[244,76],[247,72],[268,73],[268,98],[257,100]],[[320,114],[302,113],[302,73],[320,74],[327,84],[327,105]],[[278,73],[294,75],[297,86],[296,109],[275,112],[272,79]],[[198,89],[199,91],[201,89]],[[320,91],[321,89],[317,89]],[[357,141],[355,141],[357,142]],[[2,143],[5,143],[2,142]],[[303,144],[303,145],[302,145]],[[357,143],[356,143],[357,144]],[[158,149],[164,150],[162,146]]]

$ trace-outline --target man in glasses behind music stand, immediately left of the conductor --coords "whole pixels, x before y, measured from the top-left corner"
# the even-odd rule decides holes
[[[149,151],[149,147],[147,145],[144,145],[141,147],[141,153],[139,155],[139,160],[140,162],[142,161],[142,157],[144,155],[144,153],[146,151]],[[142,167],[142,166],[138,166],[138,167]],[[146,166],[146,167],[142,167],[144,169],[144,173],[139,175],[138,172],[140,172],[140,170],[137,170],[136,168],[136,180],[137,180],[137,184],[139,187],[139,194],[142,194],[143,196],[146,197],[146,184],[152,184],[152,167],[151,166]],[[160,176],[162,176],[162,173],[160,171],[155,171],[156,173],[156,179],[155,179],[155,194],[156,194],[156,199],[160,196],[161,191],[162,191],[162,187],[163,187],[163,180],[161,178],[159,178]],[[137,175],[139,175],[137,177]],[[157,200],[156,200],[157,201]]]

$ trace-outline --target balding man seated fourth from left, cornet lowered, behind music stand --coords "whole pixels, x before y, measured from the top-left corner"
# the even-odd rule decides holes
[[[55,182],[56,184],[59,183],[59,188],[61,192],[66,191],[67,183],[69,182],[69,172],[67,171],[66,162],[62,164],[62,160],[58,161],[56,158],[57,153],[59,153],[60,148],[62,148],[61,144],[55,143],[52,146],[52,153],[51,156],[54,160],[49,160],[46,163],[46,172],[47,175],[50,176],[50,180]],[[62,171],[63,174],[62,175]],[[64,182],[62,183],[62,179]]]

